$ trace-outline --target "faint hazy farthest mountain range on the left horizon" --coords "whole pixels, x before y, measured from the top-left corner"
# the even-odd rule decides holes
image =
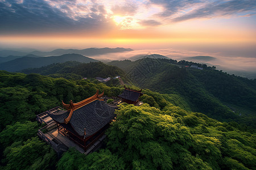
[[[38,50],[32,52],[22,52],[17,50],[0,50],[1,57],[7,56],[27,56],[28,54],[34,54],[36,56],[60,56],[63,54],[81,54],[84,56],[96,56],[106,53],[120,53],[120,52],[130,52],[133,49],[130,48],[87,48],[87,49],[55,49],[51,52],[41,52]]]

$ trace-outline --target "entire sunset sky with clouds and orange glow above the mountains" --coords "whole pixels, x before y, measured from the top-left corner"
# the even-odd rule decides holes
[[[177,49],[256,63],[255,30],[255,0],[0,0],[2,49]]]

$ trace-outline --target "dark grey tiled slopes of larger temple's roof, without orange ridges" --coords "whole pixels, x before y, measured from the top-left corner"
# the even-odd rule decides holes
[[[88,137],[103,128],[115,117],[115,109],[117,107],[112,107],[103,101],[95,100],[76,109],[69,123],[80,136],[84,135],[85,128],[86,137]],[[54,121],[64,124],[64,118],[68,117],[69,112],[57,111],[54,113],[48,112],[48,114]]]

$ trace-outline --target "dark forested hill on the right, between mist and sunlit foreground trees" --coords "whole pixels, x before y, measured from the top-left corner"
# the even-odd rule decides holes
[[[256,128],[256,79],[172,59],[144,58],[109,64],[125,70],[126,76],[139,87],[179,96],[189,105],[184,109],[202,112],[221,121],[236,120]],[[204,70],[189,68],[193,64]]]

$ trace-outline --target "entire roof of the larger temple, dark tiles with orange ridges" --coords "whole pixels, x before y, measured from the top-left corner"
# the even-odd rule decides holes
[[[112,107],[103,101],[101,101],[102,94],[98,94],[98,90],[95,95],[80,101],[79,103],[73,103],[69,101],[69,104],[65,104],[62,101],[63,107],[58,109],[51,109],[48,115],[59,124],[73,129],[80,136],[88,137],[108,124],[114,117],[114,110],[117,107]]]

